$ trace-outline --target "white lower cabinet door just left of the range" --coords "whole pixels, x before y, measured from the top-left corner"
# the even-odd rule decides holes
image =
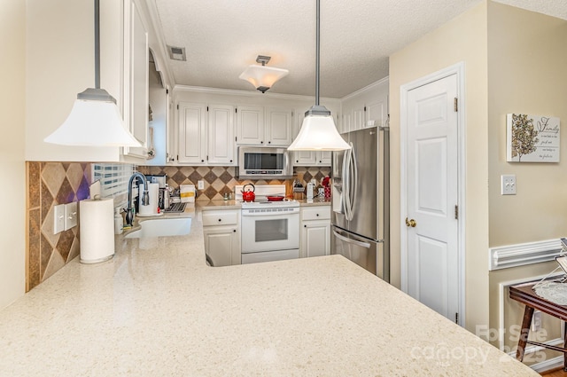
[[[240,234],[237,227],[204,227],[205,252],[214,267],[240,264]]]

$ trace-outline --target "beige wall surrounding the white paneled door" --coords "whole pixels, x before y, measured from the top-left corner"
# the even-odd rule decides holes
[[[424,35],[390,57],[392,137],[392,283],[400,287],[400,85],[465,64],[466,328],[488,324],[488,176],[486,3]]]

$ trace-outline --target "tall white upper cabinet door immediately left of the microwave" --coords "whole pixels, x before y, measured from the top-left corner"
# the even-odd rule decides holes
[[[234,165],[234,106],[209,105],[207,161]]]

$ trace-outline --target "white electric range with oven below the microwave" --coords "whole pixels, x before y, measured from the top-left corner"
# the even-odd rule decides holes
[[[242,187],[235,198],[242,201]],[[299,258],[299,202],[269,201],[285,196],[285,185],[257,185],[252,202],[242,202],[242,263]]]

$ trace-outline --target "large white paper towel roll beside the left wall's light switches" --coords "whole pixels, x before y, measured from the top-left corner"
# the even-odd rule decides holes
[[[114,255],[114,200],[81,200],[81,263],[104,262]]]

